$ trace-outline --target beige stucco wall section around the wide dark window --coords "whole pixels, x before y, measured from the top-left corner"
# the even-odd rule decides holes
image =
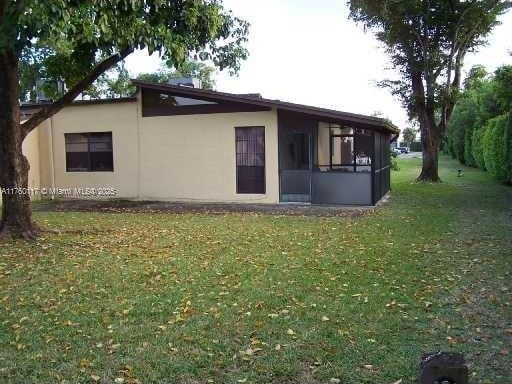
[[[115,188],[118,197],[136,198],[138,169],[137,103],[68,107],[52,119],[57,188]],[[113,172],[66,172],[65,133],[112,132]]]

